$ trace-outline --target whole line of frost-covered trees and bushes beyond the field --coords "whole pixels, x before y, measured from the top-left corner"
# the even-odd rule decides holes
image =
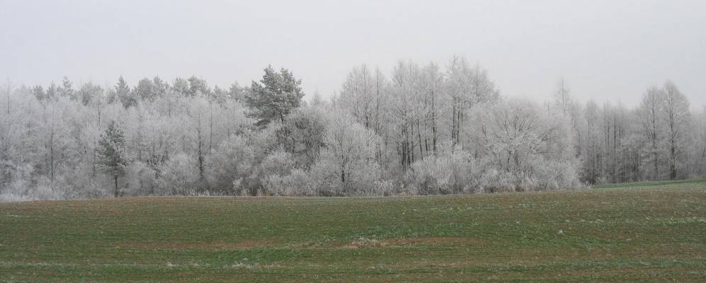
[[[502,96],[463,57],[353,67],[329,99],[292,71],[249,86],[6,82],[0,199],[428,195],[706,175],[705,110],[666,81],[634,108]]]

